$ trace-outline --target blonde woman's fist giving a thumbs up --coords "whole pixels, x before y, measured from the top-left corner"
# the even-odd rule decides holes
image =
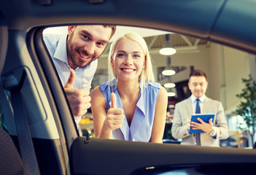
[[[111,106],[106,114],[106,119],[104,120],[104,131],[113,131],[122,126],[125,116],[123,114],[123,109],[117,108],[116,103],[117,98],[115,93],[111,93]]]

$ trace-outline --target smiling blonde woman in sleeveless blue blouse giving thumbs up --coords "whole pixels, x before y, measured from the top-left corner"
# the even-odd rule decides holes
[[[134,32],[120,36],[108,62],[109,81],[91,94],[95,136],[162,143],[168,99],[154,82],[146,42]]]

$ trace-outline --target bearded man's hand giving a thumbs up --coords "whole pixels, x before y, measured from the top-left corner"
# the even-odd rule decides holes
[[[69,100],[69,106],[74,117],[82,116],[90,108],[90,91],[86,89],[74,89],[74,79],[76,73],[73,69],[70,69],[69,79],[64,86],[66,96]]]

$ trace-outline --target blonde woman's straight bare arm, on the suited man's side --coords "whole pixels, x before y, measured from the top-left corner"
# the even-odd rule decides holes
[[[168,96],[166,89],[161,87],[155,105],[155,117],[150,142],[163,143],[163,131],[166,125]]]

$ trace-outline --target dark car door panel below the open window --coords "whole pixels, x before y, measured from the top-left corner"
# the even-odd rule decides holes
[[[74,174],[132,174],[140,168],[184,168],[256,163],[256,150],[77,138],[71,147]],[[208,171],[209,173],[210,171]]]

